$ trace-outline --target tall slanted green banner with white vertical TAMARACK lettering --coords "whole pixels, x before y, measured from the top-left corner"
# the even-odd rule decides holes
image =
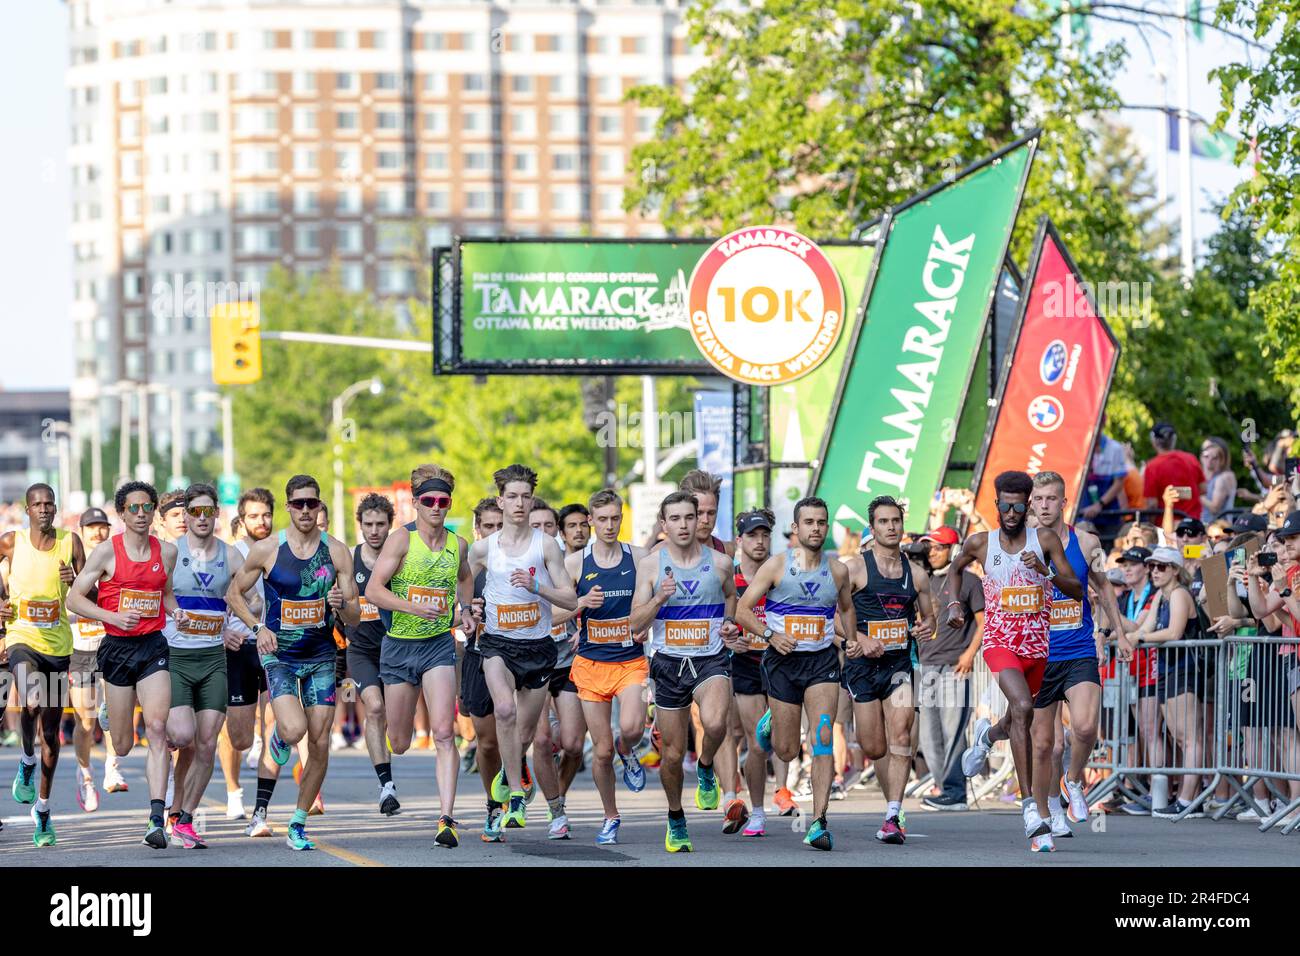
[[[836,524],[864,525],[880,494],[910,506],[909,528],[926,523],[1036,143],[1037,133],[890,215],[814,477]]]

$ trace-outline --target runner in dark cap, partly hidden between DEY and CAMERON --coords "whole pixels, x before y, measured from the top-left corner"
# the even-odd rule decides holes
[[[112,525],[103,509],[87,509],[81,516],[81,538],[86,554],[96,546],[108,541]],[[77,724],[73,728],[73,747],[77,750],[77,803],[87,813],[99,809],[99,792],[95,790],[95,773],[90,763],[90,749],[95,743],[95,723],[99,722],[99,705],[108,706],[108,701],[99,692],[99,678],[96,675],[95,654],[99,652],[99,643],[104,637],[104,622],[82,620],[70,615],[73,626],[73,657],[68,665],[68,679],[72,684],[73,709],[77,711]],[[107,714],[107,710],[105,710]],[[100,728],[104,734],[104,791],[117,793],[126,791],[126,779],[117,766],[117,754],[113,753],[113,743],[107,728],[108,721],[103,721]]]

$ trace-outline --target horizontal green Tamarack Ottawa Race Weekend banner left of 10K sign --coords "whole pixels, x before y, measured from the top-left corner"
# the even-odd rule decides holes
[[[711,372],[686,281],[707,241],[458,241],[451,371]]]

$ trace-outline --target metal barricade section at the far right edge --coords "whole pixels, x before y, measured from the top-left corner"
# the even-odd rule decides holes
[[[1260,817],[1260,832],[1288,817],[1282,832],[1290,834],[1300,825],[1300,813],[1295,813],[1300,809],[1296,652],[1295,637],[1235,636],[1223,641],[1218,704],[1226,732],[1218,739],[1217,763],[1235,793],[1216,819],[1242,801]],[[1260,804],[1260,799],[1270,800],[1274,793],[1278,809]]]

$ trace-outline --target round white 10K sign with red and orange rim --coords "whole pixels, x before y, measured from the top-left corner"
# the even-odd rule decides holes
[[[780,385],[820,365],[844,330],[844,286],[816,243],[783,226],[737,229],[690,273],[690,334],[728,378]]]

